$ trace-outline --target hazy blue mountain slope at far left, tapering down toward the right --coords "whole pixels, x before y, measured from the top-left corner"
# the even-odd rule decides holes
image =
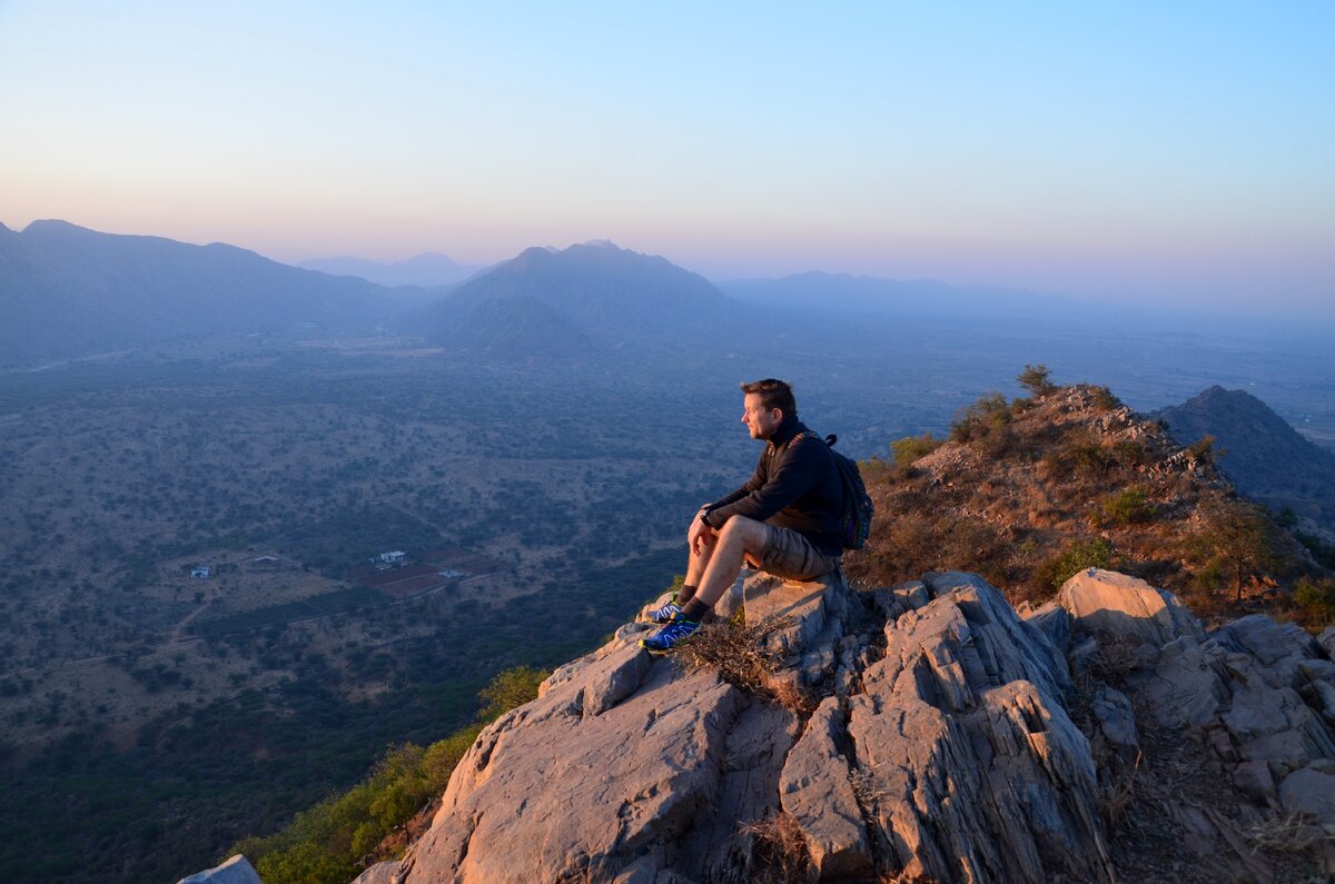
[[[0,226],[5,363],[387,314],[383,290],[214,243],[100,234],[59,220]]]

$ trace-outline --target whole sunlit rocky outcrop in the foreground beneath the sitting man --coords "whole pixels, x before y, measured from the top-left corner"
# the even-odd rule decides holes
[[[959,573],[865,592],[754,574],[730,598],[768,624],[738,657],[816,702],[650,657],[629,624],[478,737],[392,879],[1195,880],[1119,853],[1164,734],[1218,801],[1152,807],[1212,880],[1274,875],[1267,821],[1314,863],[1335,836],[1335,664],[1296,628],[1206,633],[1108,572],[1027,617]]]

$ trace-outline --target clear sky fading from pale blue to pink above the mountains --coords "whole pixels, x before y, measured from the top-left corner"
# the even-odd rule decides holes
[[[0,0],[0,222],[1335,312],[1335,3]]]

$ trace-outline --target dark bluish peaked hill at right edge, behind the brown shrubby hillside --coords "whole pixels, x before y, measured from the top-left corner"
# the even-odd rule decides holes
[[[1256,397],[1214,386],[1152,417],[1183,445],[1215,437],[1226,451],[1220,469],[1248,497],[1335,529],[1335,454],[1306,439]]]

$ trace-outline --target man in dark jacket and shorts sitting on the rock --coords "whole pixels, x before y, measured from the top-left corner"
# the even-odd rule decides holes
[[[785,580],[816,580],[840,566],[844,485],[825,439],[797,419],[793,389],[766,378],[741,385],[742,423],[764,439],[756,473],[690,522],[686,582],[650,614],[663,624],[639,646],[670,650],[700,629],[742,562]]]

